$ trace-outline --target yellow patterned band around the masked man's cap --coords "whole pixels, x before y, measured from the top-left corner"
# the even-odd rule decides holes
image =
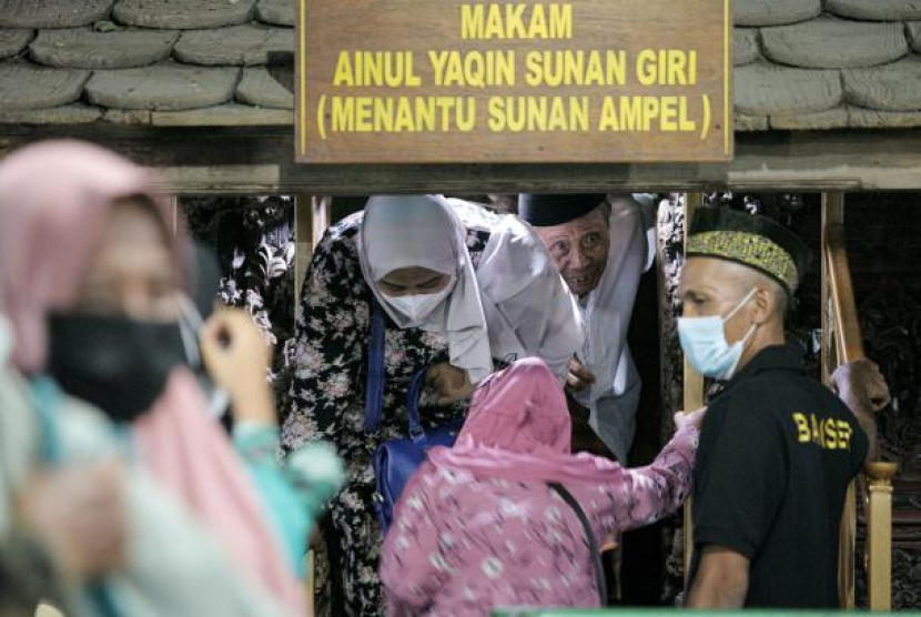
[[[797,264],[793,257],[778,244],[757,233],[696,233],[688,239],[686,252],[738,261],[771,273],[782,281],[790,292],[797,289]]]

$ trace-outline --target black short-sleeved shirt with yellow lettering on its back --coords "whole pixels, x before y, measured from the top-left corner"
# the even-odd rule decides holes
[[[838,533],[867,456],[850,409],[806,376],[791,345],[762,350],[709,404],[694,478],[700,552],[750,562],[747,607],[838,607]]]

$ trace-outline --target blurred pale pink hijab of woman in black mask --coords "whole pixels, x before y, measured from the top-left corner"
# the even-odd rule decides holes
[[[171,229],[170,200],[152,185],[145,169],[78,141],[28,145],[0,162],[0,313],[16,334],[11,360],[24,374],[43,370],[48,313],[73,304],[115,200],[149,196]],[[183,246],[169,235],[181,272]],[[302,615],[303,594],[254,487],[205,408],[194,376],[175,370],[133,426],[141,459],[216,534],[242,572]]]

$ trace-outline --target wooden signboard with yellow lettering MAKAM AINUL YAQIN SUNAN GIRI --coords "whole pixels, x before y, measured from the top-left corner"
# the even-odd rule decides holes
[[[297,0],[296,160],[732,155],[729,0]]]

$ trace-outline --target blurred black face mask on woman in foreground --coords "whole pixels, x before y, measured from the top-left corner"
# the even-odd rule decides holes
[[[175,322],[57,314],[48,328],[48,372],[65,392],[117,422],[148,412],[170,371],[186,362]]]

